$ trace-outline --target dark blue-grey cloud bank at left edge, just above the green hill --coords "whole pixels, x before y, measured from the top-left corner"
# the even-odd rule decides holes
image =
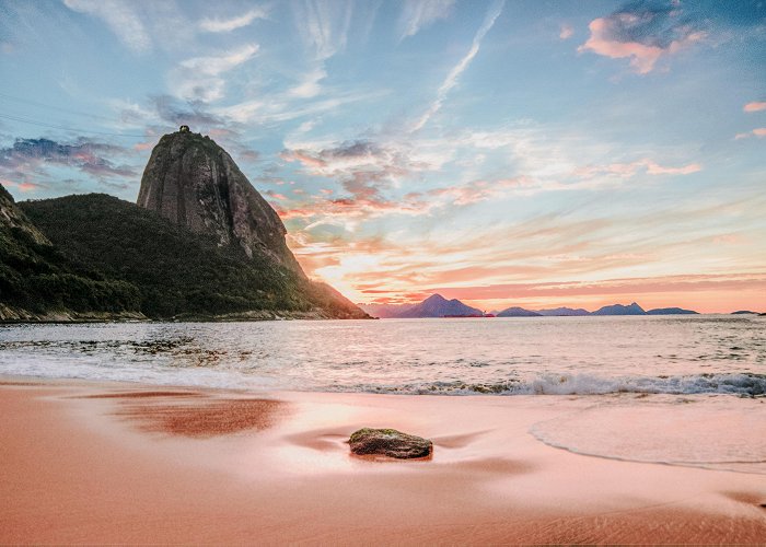
[[[13,146],[0,149],[0,173],[4,177],[26,179],[40,175],[46,166],[69,166],[97,178],[134,177],[138,173],[129,165],[115,165],[105,155],[118,155],[127,150],[114,144],[79,139],[61,143],[49,139],[16,139]]]

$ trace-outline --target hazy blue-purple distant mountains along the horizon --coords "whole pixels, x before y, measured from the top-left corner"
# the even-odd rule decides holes
[[[589,312],[582,307],[555,307],[553,310],[525,310],[512,306],[499,312],[485,314],[476,307],[471,307],[457,299],[446,300],[441,294],[432,294],[418,304],[358,304],[363,311],[374,317],[381,318],[415,318],[415,317],[542,317],[566,316],[582,317],[587,315],[692,315],[697,314],[693,310],[683,307],[658,307],[646,311],[636,302],[629,305],[613,304],[603,306],[595,312]],[[753,312],[734,312],[753,313]]]

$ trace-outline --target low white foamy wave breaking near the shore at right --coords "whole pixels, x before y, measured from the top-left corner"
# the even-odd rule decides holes
[[[636,394],[726,394],[756,397],[766,395],[766,374],[719,373],[685,376],[618,376],[546,373],[527,380],[489,383],[461,381],[425,382],[406,385],[327,386],[322,391],[399,393],[414,395],[606,395]]]

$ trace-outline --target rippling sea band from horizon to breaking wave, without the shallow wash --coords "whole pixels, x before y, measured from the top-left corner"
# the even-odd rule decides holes
[[[253,391],[759,396],[766,318],[3,325],[0,373]]]

